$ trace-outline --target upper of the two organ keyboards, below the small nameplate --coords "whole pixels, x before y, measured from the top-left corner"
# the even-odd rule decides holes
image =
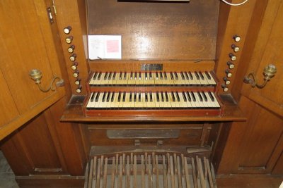
[[[94,72],[90,86],[215,86],[212,73],[203,72]]]

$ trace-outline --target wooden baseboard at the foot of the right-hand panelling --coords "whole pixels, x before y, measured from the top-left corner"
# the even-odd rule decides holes
[[[217,177],[216,182],[218,188],[278,188],[283,177],[225,176]]]

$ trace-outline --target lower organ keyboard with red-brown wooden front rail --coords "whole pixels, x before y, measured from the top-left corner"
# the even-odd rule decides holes
[[[92,92],[86,100],[86,115],[219,115],[221,108],[213,92]]]

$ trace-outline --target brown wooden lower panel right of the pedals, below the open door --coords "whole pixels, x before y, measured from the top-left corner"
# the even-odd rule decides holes
[[[248,121],[231,125],[218,173],[271,173],[282,151],[283,120],[244,96],[239,105]]]

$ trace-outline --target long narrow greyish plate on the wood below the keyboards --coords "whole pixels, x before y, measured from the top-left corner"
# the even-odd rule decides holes
[[[107,130],[109,139],[175,139],[180,130]]]

